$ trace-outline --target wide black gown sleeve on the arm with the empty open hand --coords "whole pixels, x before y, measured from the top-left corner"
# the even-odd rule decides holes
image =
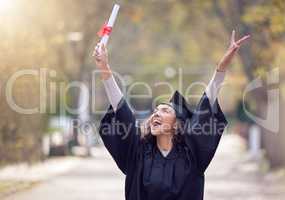
[[[211,95],[209,95],[208,92],[208,88],[213,88],[212,85],[217,83],[216,79],[217,74],[214,74],[212,81],[194,110],[188,127],[190,129],[187,130],[185,139],[186,144],[193,149],[197,168],[201,173],[204,173],[210,164],[228,123],[216,98],[217,94],[211,91]],[[216,90],[216,93],[218,93],[218,90]]]

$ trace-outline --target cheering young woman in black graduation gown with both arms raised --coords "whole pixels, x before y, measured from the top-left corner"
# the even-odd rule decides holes
[[[227,121],[217,101],[219,88],[235,52],[249,38],[235,41],[221,59],[198,106],[192,112],[181,94],[156,107],[142,128],[115,82],[106,48],[94,55],[111,103],[99,129],[104,145],[126,175],[127,200],[202,200],[204,172]],[[222,170],[222,169],[221,169]]]

